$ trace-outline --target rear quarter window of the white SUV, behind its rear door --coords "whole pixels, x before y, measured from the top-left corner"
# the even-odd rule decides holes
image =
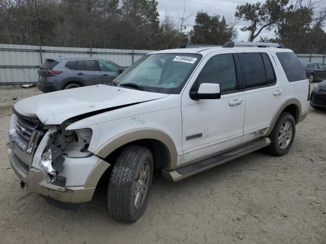
[[[307,79],[303,65],[293,52],[277,52],[276,56],[289,82]]]

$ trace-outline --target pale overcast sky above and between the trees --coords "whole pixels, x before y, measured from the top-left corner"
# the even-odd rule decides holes
[[[221,16],[225,16],[225,18],[229,22],[235,22],[234,13],[236,11],[237,5],[243,5],[245,3],[257,3],[259,0],[156,0],[158,2],[157,10],[159,13],[159,18],[163,19],[166,13],[173,17],[176,22],[183,15],[184,4],[186,4],[186,14],[185,16],[191,15],[189,17],[187,24],[189,25],[188,29],[190,29],[195,24],[196,13],[198,11],[207,12],[209,15],[218,14]],[[264,0],[259,1],[264,3]],[[235,41],[247,41],[249,37],[248,32],[241,32],[240,28],[245,25],[246,22],[240,22],[236,24],[238,36]],[[273,37],[273,32],[262,32],[262,37]],[[258,41],[259,37],[257,38]]]

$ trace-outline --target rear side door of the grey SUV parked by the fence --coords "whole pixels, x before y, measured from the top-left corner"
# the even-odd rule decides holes
[[[76,60],[75,76],[83,80],[85,85],[95,85],[102,82],[101,77],[95,78],[95,71],[98,70],[96,60]]]

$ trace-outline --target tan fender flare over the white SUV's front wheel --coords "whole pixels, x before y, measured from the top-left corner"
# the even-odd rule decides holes
[[[155,139],[161,142],[168,153],[168,167],[166,167],[166,169],[170,170],[176,168],[178,153],[172,138],[167,133],[155,128],[141,128],[123,132],[104,142],[98,147],[94,154],[105,159],[119,147],[141,139]]]

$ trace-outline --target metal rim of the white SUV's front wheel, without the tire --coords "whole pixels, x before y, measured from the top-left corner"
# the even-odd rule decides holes
[[[135,209],[139,209],[145,201],[146,194],[149,187],[149,180],[150,180],[150,165],[146,161],[144,162],[144,164],[142,165],[139,171],[137,182],[136,182],[136,187],[134,191]]]

